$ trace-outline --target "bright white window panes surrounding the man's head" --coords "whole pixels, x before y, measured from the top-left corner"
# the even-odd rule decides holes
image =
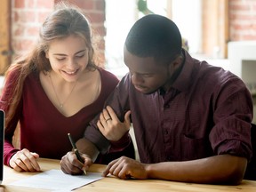
[[[148,0],[148,9],[167,16],[167,1]],[[180,28],[181,36],[188,39],[191,53],[201,52],[201,1],[172,0],[172,20]],[[118,77],[128,72],[123,61],[125,37],[133,23],[143,16],[137,3],[138,0],[106,0],[106,68]]]

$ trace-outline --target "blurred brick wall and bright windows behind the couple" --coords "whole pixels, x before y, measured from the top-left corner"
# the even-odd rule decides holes
[[[0,1],[0,84],[16,57],[36,43],[38,31],[60,0]],[[100,66],[121,78],[125,36],[132,24],[156,13],[173,20],[183,46],[198,60],[232,71],[256,95],[255,0],[69,0],[82,8],[100,36]],[[255,119],[255,118],[254,118]]]

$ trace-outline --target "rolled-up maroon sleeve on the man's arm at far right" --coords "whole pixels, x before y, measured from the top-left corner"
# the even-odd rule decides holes
[[[220,90],[222,94],[216,101],[215,125],[210,133],[210,140],[215,154],[243,156],[250,160],[252,95],[242,81],[234,81],[229,81],[223,86],[225,89]]]

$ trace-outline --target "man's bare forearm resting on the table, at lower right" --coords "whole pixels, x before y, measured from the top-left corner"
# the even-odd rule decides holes
[[[243,180],[247,160],[220,155],[186,162],[148,164],[148,178],[195,183],[237,185]]]

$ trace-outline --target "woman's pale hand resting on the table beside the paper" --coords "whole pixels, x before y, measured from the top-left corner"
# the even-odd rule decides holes
[[[39,172],[40,166],[36,161],[38,157],[38,154],[23,148],[12,156],[9,164],[17,172]]]

